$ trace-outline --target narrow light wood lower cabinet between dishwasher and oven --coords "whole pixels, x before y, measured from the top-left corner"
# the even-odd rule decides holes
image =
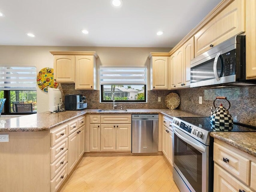
[[[172,120],[163,116],[162,152],[172,165]]]

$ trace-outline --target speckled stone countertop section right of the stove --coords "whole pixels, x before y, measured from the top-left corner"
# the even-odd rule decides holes
[[[211,132],[210,136],[256,157],[256,132]]]

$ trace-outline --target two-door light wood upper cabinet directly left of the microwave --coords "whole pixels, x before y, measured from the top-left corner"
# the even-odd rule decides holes
[[[190,86],[190,60],[192,58],[194,58],[194,37],[170,56],[169,89]]]

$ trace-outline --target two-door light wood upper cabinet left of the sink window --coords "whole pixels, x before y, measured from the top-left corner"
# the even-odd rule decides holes
[[[75,89],[96,90],[96,52],[50,52],[54,55],[54,80],[75,83]]]

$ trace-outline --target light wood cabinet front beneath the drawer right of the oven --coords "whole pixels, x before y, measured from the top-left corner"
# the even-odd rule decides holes
[[[214,192],[246,191],[252,192],[228,172],[217,164],[214,164]]]

